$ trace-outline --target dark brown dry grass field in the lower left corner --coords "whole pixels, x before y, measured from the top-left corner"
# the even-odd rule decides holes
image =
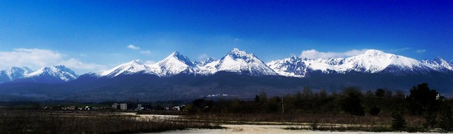
[[[187,128],[221,128],[182,119],[140,119],[114,112],[0,111],[0,131],[18,133],[149,133]]]

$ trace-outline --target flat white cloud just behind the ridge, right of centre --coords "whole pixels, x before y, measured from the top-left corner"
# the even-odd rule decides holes
[[[304,50],[301,53],[302,58],[308,59],[328,59],[328,58],[346,58],[352,57],[358,54],[363,54],[367,49],[363,50],[349,50],[346,52],[319,52],[317,50]]]

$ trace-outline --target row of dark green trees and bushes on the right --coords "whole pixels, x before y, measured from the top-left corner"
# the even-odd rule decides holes
[[[395,131],[427,131],[442,128],[444,131],[453,130],[453,101],[445,99],[435,89],[429,89],[428,84],[418,84],[410,89],[410,94],[402,91],[376,89],[362,92],[355,87],[342,89],[327,94],[320,90],[313,92],[305,87],[296,94],[286,96],[269,96],[261,93],[253,100],[239,99],[209,100],[200,98],[193,101],[189,114],[284,114],[326,116],[350,116],[388,118],[388,130]],[[318,116],[318,117],[319,117]],[[417,119],[421,119],[421,122]],[[278,120],[278,119],[277,119]],[[313,120],[313,119],[310,119]],[[413,121],[413,122],[411,122]],[[370,122],[369,124],[375,124]]]

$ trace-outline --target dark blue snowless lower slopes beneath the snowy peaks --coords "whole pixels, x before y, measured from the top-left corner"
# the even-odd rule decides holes
[[[307,78],[284,76],[237,75],[230,72],[219,72],[215,75],[121,75],[118,77],[98,78],[81,75],[79,79],[60,84],[41,83],[8,83],[0,84],[0,92],[11,98],[18,96],[34,99],[71,101],[77,94],[79,101],[168,101],[201,98],[221,94],[224,98],[252,98],[266,92],[270,96],[284,96],[310,87],[313,91],[341,91],[346,87],[358,87],[365,90],[391,89],[408,92],[422,82],[442,94],[452,94],[450,87],[453,74],[431,73],[393,75],[392,73],[347,73],[318,74]],[[228,96],[223,96],[228,94]]]

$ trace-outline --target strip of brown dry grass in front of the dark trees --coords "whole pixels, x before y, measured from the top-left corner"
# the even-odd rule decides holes
[[[409,132],[421,131],[423,117],[404,117],[408,122]],[[291,126],[289,130],[318,130],[318,131],[394,131],[392,117],[381,116],[351,116],[339,114],[197,114],[188,116],[195,121],[211,122],[213,124],[251,124],[251,125],[284,125]]]

